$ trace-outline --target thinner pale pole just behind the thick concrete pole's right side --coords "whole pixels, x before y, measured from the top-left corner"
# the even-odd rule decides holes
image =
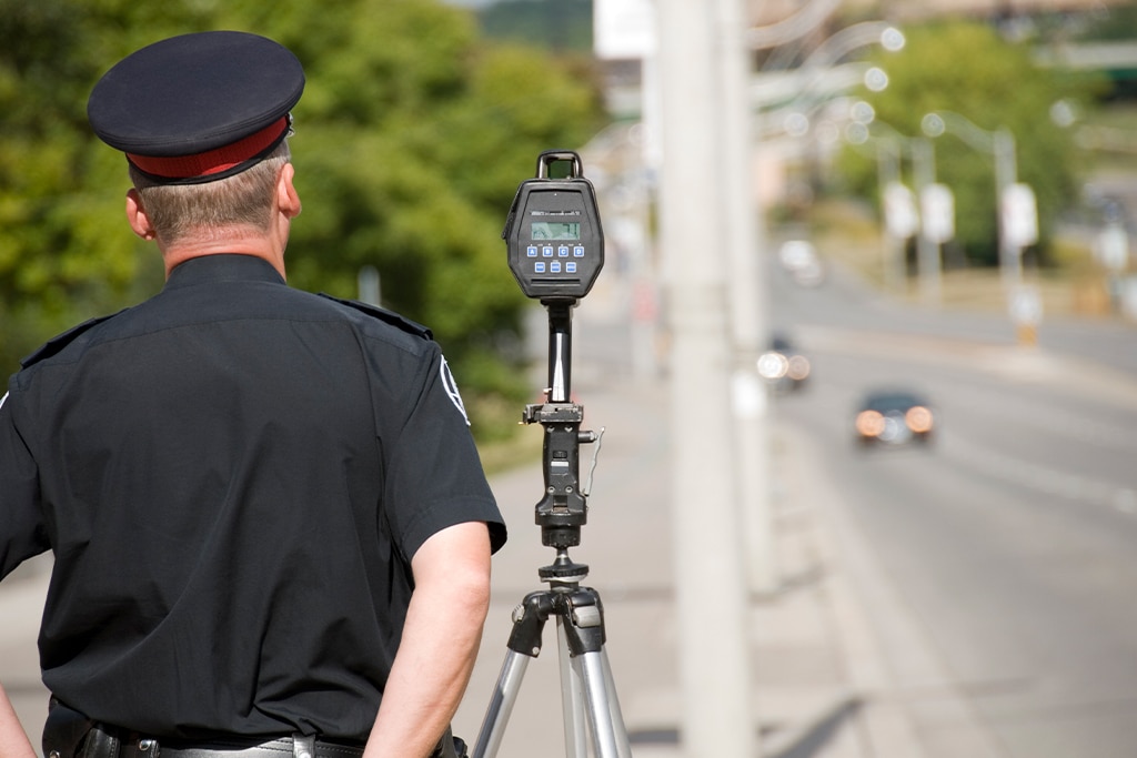
[[[717,9],[721,139],[719,195],[729,233],[727,277],[730,295],[735,366],[731,378],[735,417],[735,477],[746,530],[745,553],[750,590],[777,590],[773,515],[770,509],[767,390],[758,375],[758,356],[769,340],[764,293],[764,250],[753,185],[754,127],[750,115],[752,66],[746,45],[746,18],[740,0],[715,0]]]

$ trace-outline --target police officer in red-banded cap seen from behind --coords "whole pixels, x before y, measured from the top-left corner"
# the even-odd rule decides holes
[[[505,525],[430,332],[285,284],[304,83],[208,32],[91,94],[167,281],[0,401],[0,576],[55,556],[45,753],[453,751]],[[2,689],[0,753],[33,755]]]

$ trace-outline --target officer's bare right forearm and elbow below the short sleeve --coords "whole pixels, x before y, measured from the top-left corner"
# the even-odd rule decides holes
[[[458,709],[489,609],[489,530],[481,522],[442,530],[410,567],[402,642],[364,758],[430,755]]]

